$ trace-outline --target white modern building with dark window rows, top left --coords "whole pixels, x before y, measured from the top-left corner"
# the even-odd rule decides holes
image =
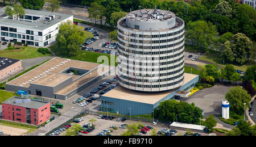
[[[59,24],[71,20],[73,15],[25,9],[25,15],[11,19],[0,9],[1,41],[46,47],[55,41]]]

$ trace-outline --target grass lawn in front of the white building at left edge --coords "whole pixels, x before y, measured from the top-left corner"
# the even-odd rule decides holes
[[[42,54],[38,52],[38,48],[34,47],[22,47],[19,49],[8,50],[5,49],[0,51],[0,57],[16,58],[16,59],[26,59],[26,58],[36,58],[43,56],[52,56],[52,54]]]

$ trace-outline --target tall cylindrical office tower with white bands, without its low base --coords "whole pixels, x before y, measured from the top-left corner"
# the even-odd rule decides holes
[[[131,11],[118,27],[119,84],[156,92],[175,89],[184,81],[184,21],[173,12]]]

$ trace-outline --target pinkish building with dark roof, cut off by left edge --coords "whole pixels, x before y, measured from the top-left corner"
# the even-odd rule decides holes
[[[0,81],[22,69],[22,62],[14,58],[0,57]]]

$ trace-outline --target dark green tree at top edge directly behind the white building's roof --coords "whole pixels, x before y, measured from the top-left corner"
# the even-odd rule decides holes
[[[40,10],[44,6],[44,0],[19,0],[19,2],[25,9]]]

